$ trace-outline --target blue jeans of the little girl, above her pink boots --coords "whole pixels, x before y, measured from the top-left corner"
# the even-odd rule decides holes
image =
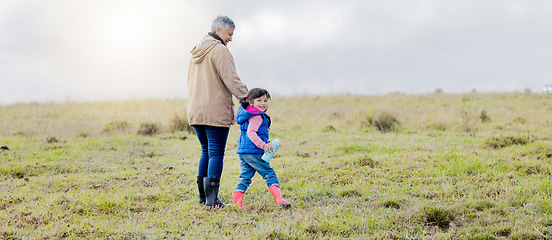
[[[245,192],[251,184],[251,178],[258,172],[266,181],[268,187],[276,185],[280,187],[276,172],[270,163],[261,159],[262,153],[243,153],[240,157],[240,182],[236,186],[236,191]]]

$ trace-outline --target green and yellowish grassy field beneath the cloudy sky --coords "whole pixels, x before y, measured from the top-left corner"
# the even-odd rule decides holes
[[[0,106],[0,239],[552,238],[552,96],[274,97],[271,164],[292,210],[258,175],[245,209],[200,206],[199,143],[171,130],[185,107]]]

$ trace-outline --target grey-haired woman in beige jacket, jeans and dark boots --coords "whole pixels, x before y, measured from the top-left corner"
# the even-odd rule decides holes
[[[199,203],[209,208],[224,207],[218,191],[228,131],[234,124],[232,95],[242,99],[248,92],[226,47],[232,41],[234,28],[230,18],[215,18],[211,32],[192,50],[188,70],[188,122],[201,145]]]

